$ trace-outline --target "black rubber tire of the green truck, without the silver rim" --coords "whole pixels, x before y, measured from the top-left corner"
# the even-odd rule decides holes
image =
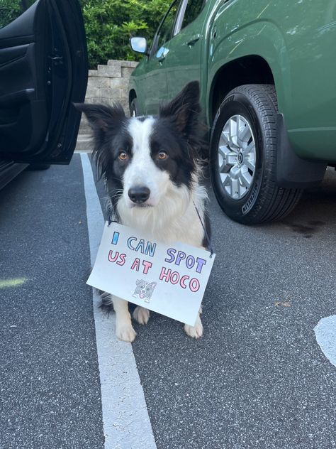
[[[284,189],[276,185],[277,110],[274,85],[242,85],[228,93],[213,122],[210,148],[213,190],[225,214],[242,224],[279,220],[293,210],[301,197],[302,190]],[[250,187],[246,187],[244,195],[238,199],[234,199],[223,187],[218,161],[223,127],[235,115],[240,115],[247,121],[255,144],[252,181]]]

